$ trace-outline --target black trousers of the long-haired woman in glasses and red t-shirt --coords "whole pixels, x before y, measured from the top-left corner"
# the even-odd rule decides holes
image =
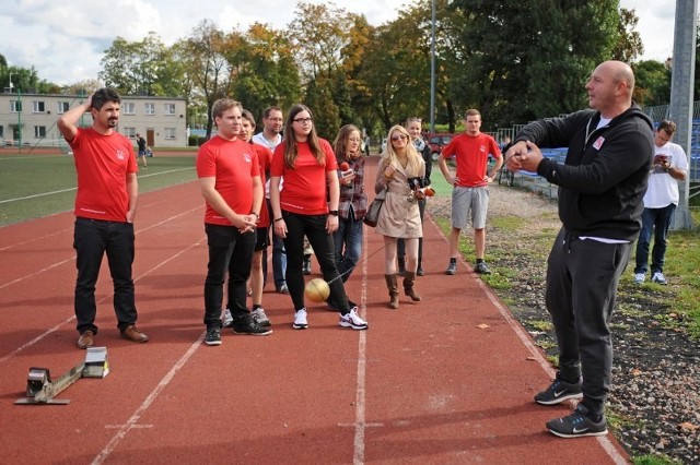
[[[287,224],[287,286],[294,303],[294,310],[305,308],[304,303],[304,236],[314,249],[316,260],[320,265],[324,281],[330,287],[328,302],[342,314],[350,312],[348,296],[342,279],[336,267],[335,243],[332,235],[326,233],[327,215],[299,215],[282,211]]]

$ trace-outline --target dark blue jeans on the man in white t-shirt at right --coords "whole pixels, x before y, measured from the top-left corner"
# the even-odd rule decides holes
[[[676,205],[670,204],[663,208],[644,208],[642,213],[642,230],[637,241],[637,258],[634,273],[646,273],[649,262],[649,245],[654,234],[654,248],[652,250],[652,274],[664,272],[664,258],[666,257],[666,236],[670,222],[674,218]]]

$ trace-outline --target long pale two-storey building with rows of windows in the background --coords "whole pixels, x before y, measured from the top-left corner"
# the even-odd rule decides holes
[[[16,88],[0,94],[0,142],[23,146],[65,145],[56,120],[85,97],[56,94],[23,94]],[[140,133],[151,147],[187,146],[186,102],[184,98],[121,96],[117,130],[136,140]],[[92,126],[85,114],[79,126]],[[20,131],[21,130],[21,131]],[[136,144],[136,141],[135,141]]]

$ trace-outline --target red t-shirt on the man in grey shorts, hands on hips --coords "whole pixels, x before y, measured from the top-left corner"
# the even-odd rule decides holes
[[[489,134],[479,133],[469,135],[467,133],[455,136],[443,150],[445,158],[455,155],[457,165],[456,177],[459,181],[455,184],[460,188],[477,188],[487,186],[483,180],[486,176],[489,154],[495,158],[501,157],[501,150],[493,138]]]

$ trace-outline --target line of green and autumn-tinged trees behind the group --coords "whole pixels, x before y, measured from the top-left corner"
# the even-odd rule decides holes
[[[586,106],[591,71],[607,59],[630,63],[640,105],[669,102],[670,67],[635,61],[643,46],[634,10],[617,0],[434,0],[434,120],[454,132],[467,108],[478,108],[483,130],[568,114]],[[57,88],[34,69],[8,68],[0,82],[38,92],[92,90],[104,83],[122,95],[187,99],[188,121],[211,134],[211,106],[235,98],[261,117],[303,102],[320,135],[346,123],[372,135],[417,116],[430,120],[432,0],[410,3],[380,26],[334,3],[296,4],[284,28],[255,23],[221,31],[211,20],[166,46],[158,34],[117,37],[105,50],[97,80]],[[698,53],[700,57],[700,53]],[[700,58],[699,58],[700,59]]]

